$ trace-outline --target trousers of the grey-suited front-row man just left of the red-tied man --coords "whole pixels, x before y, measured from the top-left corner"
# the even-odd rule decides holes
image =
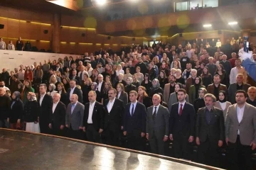
[[[149,134],[149,145],[153,154],[164,155],[164,136],[158,137],[157,135],[153,134],[152,137],[150,137]]]

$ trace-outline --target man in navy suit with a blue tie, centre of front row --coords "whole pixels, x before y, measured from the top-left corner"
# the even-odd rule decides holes
[[[146,107],[137,101],[137,91],[129,92],[131,103],[125,106],[123,125],[129,149],[144,150],[142,137],[146,133]]]

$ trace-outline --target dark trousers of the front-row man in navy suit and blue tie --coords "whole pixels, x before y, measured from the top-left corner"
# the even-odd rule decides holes
[[[141,133],[142,130],[127,132],[127,148],[144,151],[145,140]]]

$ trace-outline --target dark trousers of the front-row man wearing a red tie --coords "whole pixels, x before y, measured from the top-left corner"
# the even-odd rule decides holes
[[[188,142],[188,136],[173,135],[174,137],[174,157],[178,159],[191,160],[192,147]]]

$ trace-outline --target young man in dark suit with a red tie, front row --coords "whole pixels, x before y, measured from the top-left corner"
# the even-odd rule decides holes
[[[191,160],[193,142],[195,109],[185,101],[186,90],[178,90],[178,103],[171,106],[170,140],[174,141],[174,157]]]

